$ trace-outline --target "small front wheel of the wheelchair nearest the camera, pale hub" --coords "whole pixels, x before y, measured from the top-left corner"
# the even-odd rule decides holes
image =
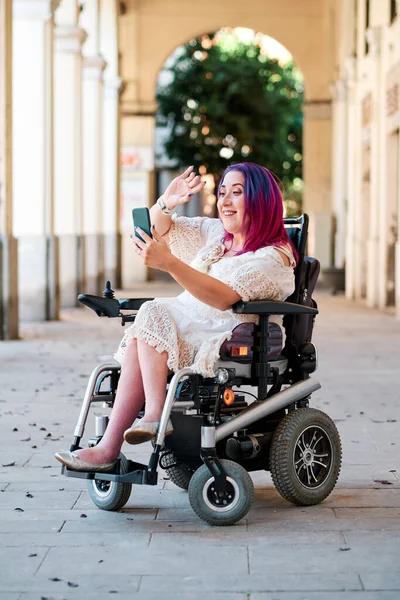
[[[250,510],[254,498],[253,481],[248,472],[231,460],[221,460],[227,481],[227,498],[213,491],[214,478],[206,465],[197,469],[189,484],[189,502],[196,513],[210,525],[233,525]]]

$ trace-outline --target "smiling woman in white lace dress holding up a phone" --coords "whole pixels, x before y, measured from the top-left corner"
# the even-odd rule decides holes
[[[234,314],[235,302],[284,300],[294,290],[294,250],[274,176],[254,163],[232,165],[218,189],[219,219],[171,215],[203,187],[189,167],[151,208],[153,238],[138,230],[144,242],[135,238],[136,252],[144,264],[167,271],[185,291],[146,302],[138,311],[115,355],[122,368],[105,435],[94,448],[56,454],[72,469],[107,471],[123,439],[138,444],[155,437],[169,370],[191,366],[212,376],[233,329],[257,320]],[[145,414],[132,427],[144,400]]]

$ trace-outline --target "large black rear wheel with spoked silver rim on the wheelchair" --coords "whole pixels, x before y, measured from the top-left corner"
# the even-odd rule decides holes
[[[319,504],[335,487],[342,463],[335,423],[315,408],[287,414],[275,430],[269,462],[272,480],[285,500],[298,506]]]

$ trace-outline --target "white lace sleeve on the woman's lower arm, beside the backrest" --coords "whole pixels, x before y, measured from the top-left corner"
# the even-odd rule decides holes
[[[283,264],[272,248],[263,248],[241,262],[224,283],[244,302],[285,300],[294,290],[294,271]]]

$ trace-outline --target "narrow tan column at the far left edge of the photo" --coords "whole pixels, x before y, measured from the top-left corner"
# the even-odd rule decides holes
[[[12,0],[0,3],[0,340],[18,339],[18,247],[12,195]]]

